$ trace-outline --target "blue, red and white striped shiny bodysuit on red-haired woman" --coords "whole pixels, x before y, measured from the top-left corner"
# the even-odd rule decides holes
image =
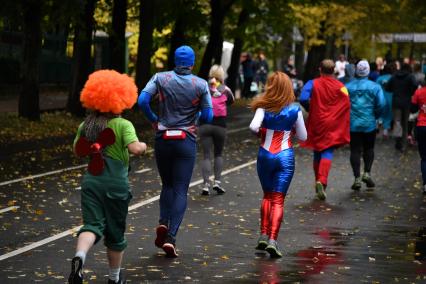
[[[284,198],[294,173],[291,137],[295,132],[299,140],[306,140],[305,123],[300,107],[291,104],[279,113],[258,108],[250,129],[261,136],[257,157],[257,173],[264,192],[260,233],[276,240],[283,218]]]

